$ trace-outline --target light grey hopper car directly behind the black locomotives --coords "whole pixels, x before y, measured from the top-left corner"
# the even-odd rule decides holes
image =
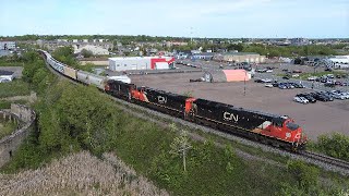
[[[76,78],[84,84],[94,85],[99,89],[105,89],[106,77],[104,76],[79,70]]]

